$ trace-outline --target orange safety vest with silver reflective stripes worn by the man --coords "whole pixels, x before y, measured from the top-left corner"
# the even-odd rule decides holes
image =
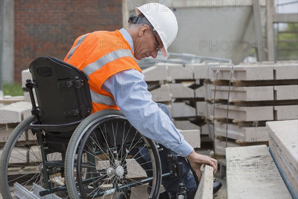
[[[142,72],[129,43],[119,30],[95,31],[74,41],[65,62],[74,65],[88,77],[94,113],[104,109],[119,109],[111,93],[101,88],[112,75],[135,69]]]

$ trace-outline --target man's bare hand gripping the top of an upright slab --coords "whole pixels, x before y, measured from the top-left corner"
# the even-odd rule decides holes
[[[186,158],[189,160],[190,166],[197,172],[199,181],[202,177],[201,166],[203,164],[212,166],[213,174],[215,174],[218,169],[218,161],[216,159],[210,158],[206,155],[198,154],[195,152],[195,150],[193,150]]]

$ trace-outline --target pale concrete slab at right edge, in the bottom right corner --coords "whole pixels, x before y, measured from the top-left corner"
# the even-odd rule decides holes
[[[270,121],[269,150],[294,199],[298,198],[298,120]]]

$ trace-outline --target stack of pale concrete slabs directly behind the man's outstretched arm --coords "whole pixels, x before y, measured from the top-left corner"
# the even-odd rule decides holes
[[[200,126],[197,120],[205,110],[204,97],[197,99],[192,69],[182,64],[158,63],[143,70],[152,100],[168,106],[175,126],[194,148],[200,148]],[[152,89],[153,88],[153,89]],[[198,100],[200,111],[196,107]],[[198,105],[198,106],[199,106]]]

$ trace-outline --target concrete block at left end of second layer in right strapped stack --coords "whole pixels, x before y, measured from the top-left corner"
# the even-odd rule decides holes
[[[213,96],[215,87],[213,89]],[[228,91],[230,89],[230,91]],[[274,100],[273,86],[266,87],[228,87],[217,86],[216,99],[227,100],[229,93],[229,101],[266,101]]]

